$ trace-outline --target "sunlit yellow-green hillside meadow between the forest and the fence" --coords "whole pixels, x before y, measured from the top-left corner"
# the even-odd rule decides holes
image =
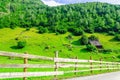
[[[105,49],[113,50],[113,52],[109,53],[97,53],[86,51],[86,46],[80,45],[78,41],[80,36],[73,36],[73,39],[69,41],[66,38],[68,35],[70,35],[70,33],[62,35],[56,35],[55,33],[38,34],[35,28],[30,29],[30,31],[25,31],[24,28],[4,28],[0,29],[0,50],[20,53],[27,51],[30,54],[51,57],[54,56],[54,51],[58,50],[60,57],[74,58],[78,56],[81,59],[89,59],[90,55],[92,55],[96,60],[103,57],[104,60],[119,61],[117,56],[120,52],[120,42],[112,41],[114,36],[94,33],[94,35],[98,36]],[[86,35],[90,36],[92,34]],[[17,49],[16,37],[25,39],[27,46],[22,49]],[[116,59],[113,59],[114,57],[116,57]]]

